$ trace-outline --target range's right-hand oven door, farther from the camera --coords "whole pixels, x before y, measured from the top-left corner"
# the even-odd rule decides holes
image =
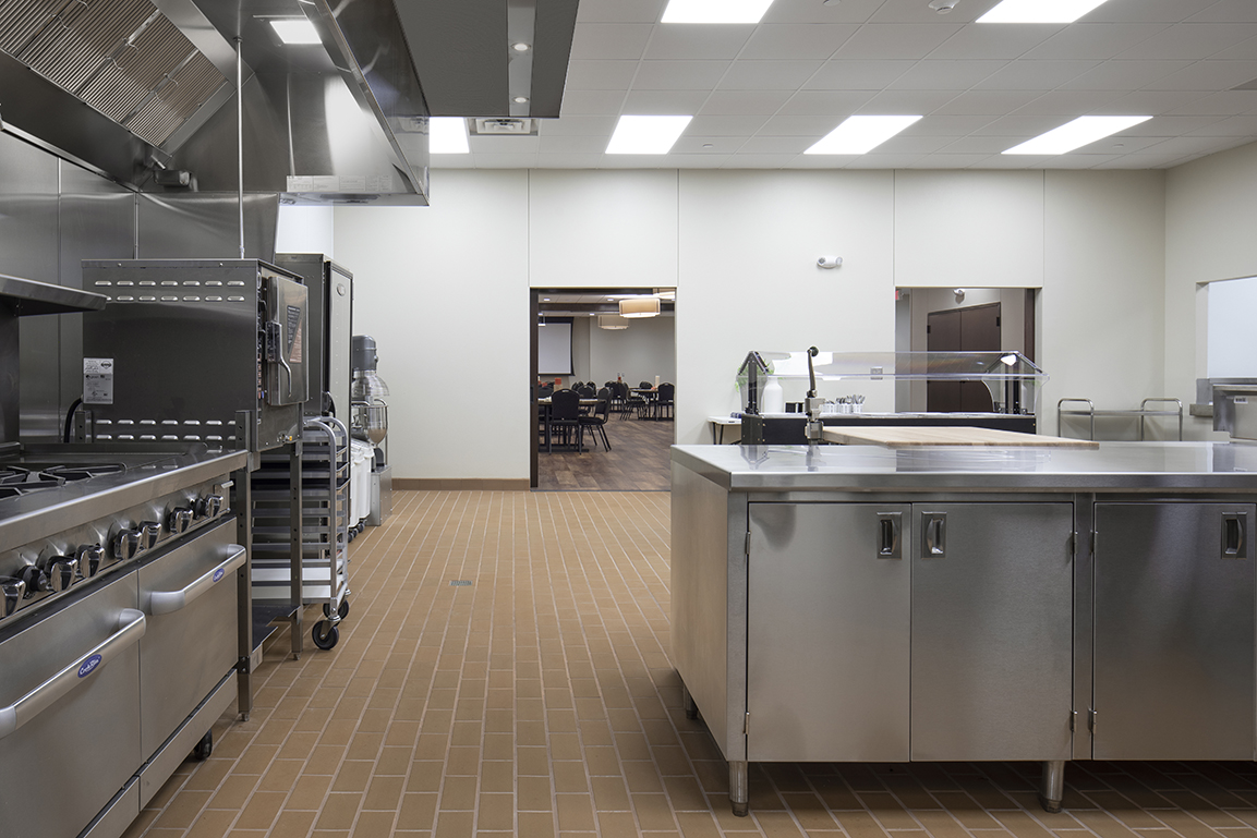
[[[224,521],[138,570],[148,618],[140,642],[146,759],[236,663],[243,548],[233,544],[235,531],[234,520]]]

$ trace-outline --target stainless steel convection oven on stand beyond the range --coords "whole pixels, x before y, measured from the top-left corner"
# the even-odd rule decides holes
[[[298,276],[256,259],[85,260],[83,283],[112,303],[83,323],[89,438],[263,451],[300,435]]]

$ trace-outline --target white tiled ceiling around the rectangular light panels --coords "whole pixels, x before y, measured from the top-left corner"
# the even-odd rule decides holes
[[[466,168],[1161,168],[1257,139],[1257,0],[1107,0],[1070,25],[975,24],[997,0],[776,0],[759,25],[581,0],[561,118],[471,137]],[[1257,85],[1254,85],[1257,87]],[[605,155],[620,114],[694,114],[669,155]],[[851,114],[923,114],[862,156],[803,156]],[[1003,156],[1084,114],[1154,118]]]

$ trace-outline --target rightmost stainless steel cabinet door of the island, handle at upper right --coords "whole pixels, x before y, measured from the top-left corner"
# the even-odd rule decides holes
[[[1096,759],[1253,759],[1253,510],[1096,504]]]

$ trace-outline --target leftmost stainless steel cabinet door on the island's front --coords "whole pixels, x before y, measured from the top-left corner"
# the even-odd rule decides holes
[[[908,759],[908,510],[750,504],[749,760]]]

